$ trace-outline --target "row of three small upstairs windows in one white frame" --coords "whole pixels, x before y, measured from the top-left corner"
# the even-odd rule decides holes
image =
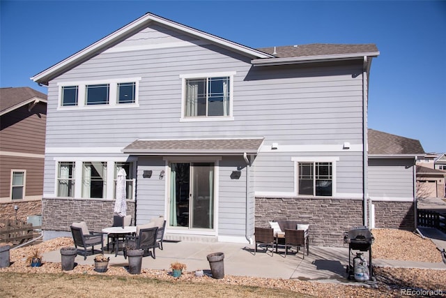
[[[137,107],[141,77],[59,83],[59,108]]]

